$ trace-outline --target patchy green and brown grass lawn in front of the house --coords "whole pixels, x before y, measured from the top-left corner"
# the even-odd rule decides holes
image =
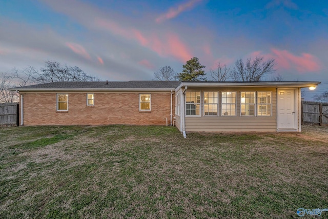
[[[0,128],[0,152],[0,218],[299,218],[300,207],[328,208],[328,127],[186,139],[159,126]]]

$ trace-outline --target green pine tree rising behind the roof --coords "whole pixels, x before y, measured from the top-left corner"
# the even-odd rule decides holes
[[[204,71],[202,70],[205,66],[199,63],[197,57],[193,57],[187,61],[186,65],[183,65],[183,70],[178,74],[180,81],[206,81]]]

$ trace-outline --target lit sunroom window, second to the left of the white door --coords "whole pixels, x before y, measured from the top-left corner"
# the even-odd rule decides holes
[[[255,92],[240,93],[240,115],[255,116]]]

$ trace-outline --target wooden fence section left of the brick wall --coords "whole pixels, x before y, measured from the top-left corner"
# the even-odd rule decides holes
[[[19,104],[0,104],[0,127],[19,126]]]

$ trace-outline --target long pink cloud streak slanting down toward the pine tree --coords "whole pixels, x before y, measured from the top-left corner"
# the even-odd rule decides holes
[[[141,46],[156,52],[160,56],[172,56],[181,62],[186,62],[192,58],[188,46],[175,33],[168,32],[159,36],[157,33],[146,34],[135,28],[125,28],[105,19],[96,18],[95,22],[99,28],[109,30],[127,39],[135,40]]]

